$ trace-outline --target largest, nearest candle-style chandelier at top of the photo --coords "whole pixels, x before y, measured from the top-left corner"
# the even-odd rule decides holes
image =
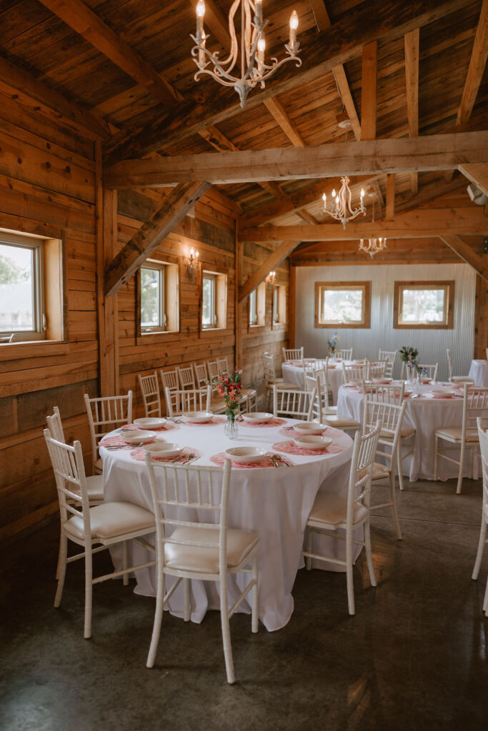
[[[240,54],[239,41],[234,27],[234,15],[236,15],[239,5],[241,6]],[[252,18],[252,12],[254,12],[254,18]],[[287,61],[296,61],[297,67],[301,66],[301,58],[297,55],[300,44],[296,39],[296,29],[299,27],[299,16],[296,14],[296,10],[293,10],[290,18],[290,42],[285,44],[288,57],[282,58],[281,61],[271,58],[270,65],[266,64],[264,60],[266,48],[264,29],[269,21],[263,20],[263,0],[234,0],[229,11],[230,53],[227,58],[221,59],[218,51],[210,53],[206,49],[206,41],[209,36],[203,30],[203,15],[205,15],[205,2],[198,0],[197,32],[195,36],[191,36],[195,42],[195,46],[192,48],[193,61],[198,66],[195,81],[198,81],[202,74],[208,74],[223,86],[233,86],[241,99],[241,107],[245,107],[250,89],[258,83],[261,88],[264,88],[265,81]],[[235,75],[232,74],[233,71]]]

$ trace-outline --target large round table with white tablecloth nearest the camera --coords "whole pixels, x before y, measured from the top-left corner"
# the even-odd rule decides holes
[[[228,506],[229,528],[253,531],[260,537],[259,617],[266,629],[280,629],[293,613],[291,591],[296,572],[303,565],[301,550],[304,531],[315,495],[323,490],[347,496],[353,442],[347,434],[327,428],[326,436],[334,439],[329,447],[330,452],[319,452],[318,455],[289,454],[283,450],[286,446],[283,443],[289,444],[292,437],[290,431],[283,429],[290,428],[296,420],[274,419],[267,426],[246,426],[241,422],[239,439],[236,441],[230,441],[224,435],[224,422],[225,417],[214,417],[211,423],[205,425],[168,420],[168,430],[158,430],[157,436],[190,447],[194,453],[201,455],[195,460],[200,465],[209,466],[213,464],[210,459],[212,456],[229,447],[244,445],[273,450],[292,463],[291,466],[280,466],[278,469],[263,466],[233,468]],[[276,422],[279,424],[276,425]],[[120,434],[120,431],[110,433],[102,439],[101,444],[120,443]],[[154,512],[146,465],[138,461],[143,459],[143,450],[109,450],[100,446],[100,455],[103,460],[105,501],[127,500]],[[157,463],[155,466],[158,477]],[[345,541],[331,537],[318,537],[318,541],[314,551],[320,550],[320,546],[331,556],[345,557]],[[359,552],[356,551],[356,556]],[[118,567],[121,564],[121,548],[115,547],[111,553]],[[150,561],[151,553],[132,542],[129,545],[129,560],[131,557],[135,564],[139,564]],[[323,564],[319,566],[324,568]],[[337,564],[328,564],[326,568],[337,570]],[[135,593],[154,596],[154,567],[139,569],[135,576]],[[166,581],[170,588],[173,578],[166,577]],[[246,575],[228,575],[230,605],[241,593],[239,586],[245,586],[246,581]],[[192,580],[191,596],[192,621],[200,622],[207,609],[219,608],[217,584],[214,582]],[[169,608],[176,616],[183,616],[181,585],[171,597]],[[242,602],[241,611],[250,612],[247,599]]]

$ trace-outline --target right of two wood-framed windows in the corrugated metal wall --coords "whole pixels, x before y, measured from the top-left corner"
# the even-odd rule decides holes
[[[454,281],[396,281],[393,327],[454,327]]]

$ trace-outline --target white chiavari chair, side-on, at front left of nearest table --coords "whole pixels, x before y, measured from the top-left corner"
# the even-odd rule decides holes
[[[142,537],[154,533],[154,515],[144,508],[129,502],[103,503],[90,507],[86,487],[83,452],[80,442],[70,444],[59,442],[44,430],[50,461],[56,477],[61,516],[61,539],[59,552],[59,577],[54,606],[59,607],[63,594],[67,564],[85,560],[85,626],[84,636],[91,637],[91,599],[93,585],[108,579],[123,577],[127,586],[129,573],[135,569],[153,566],[148,561],[139,566],[127,567],[127,541],[138,539],[146,548],[152,547]],[[67,557],[67,542],[72,541],[82,548],[82,553]],[[122,569],[93,577],[93,554],[122,544]],[[96,546],[97,548],[94,548]],[[154,548],[152,548],[154,550]]]

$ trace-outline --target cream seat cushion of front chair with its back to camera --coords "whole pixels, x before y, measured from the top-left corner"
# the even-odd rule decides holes
[[[219,542],[219,529],[177,528],[170,539],[179,541]],[[249,531],[230,528],[227,531],[227,565],[239,566],[252,549],[258,545],[259,537]],[[218,548],[198,548],[176,543],[165,543],[165,564],[168,569],[194,571],[202,574],[218,574]]]

